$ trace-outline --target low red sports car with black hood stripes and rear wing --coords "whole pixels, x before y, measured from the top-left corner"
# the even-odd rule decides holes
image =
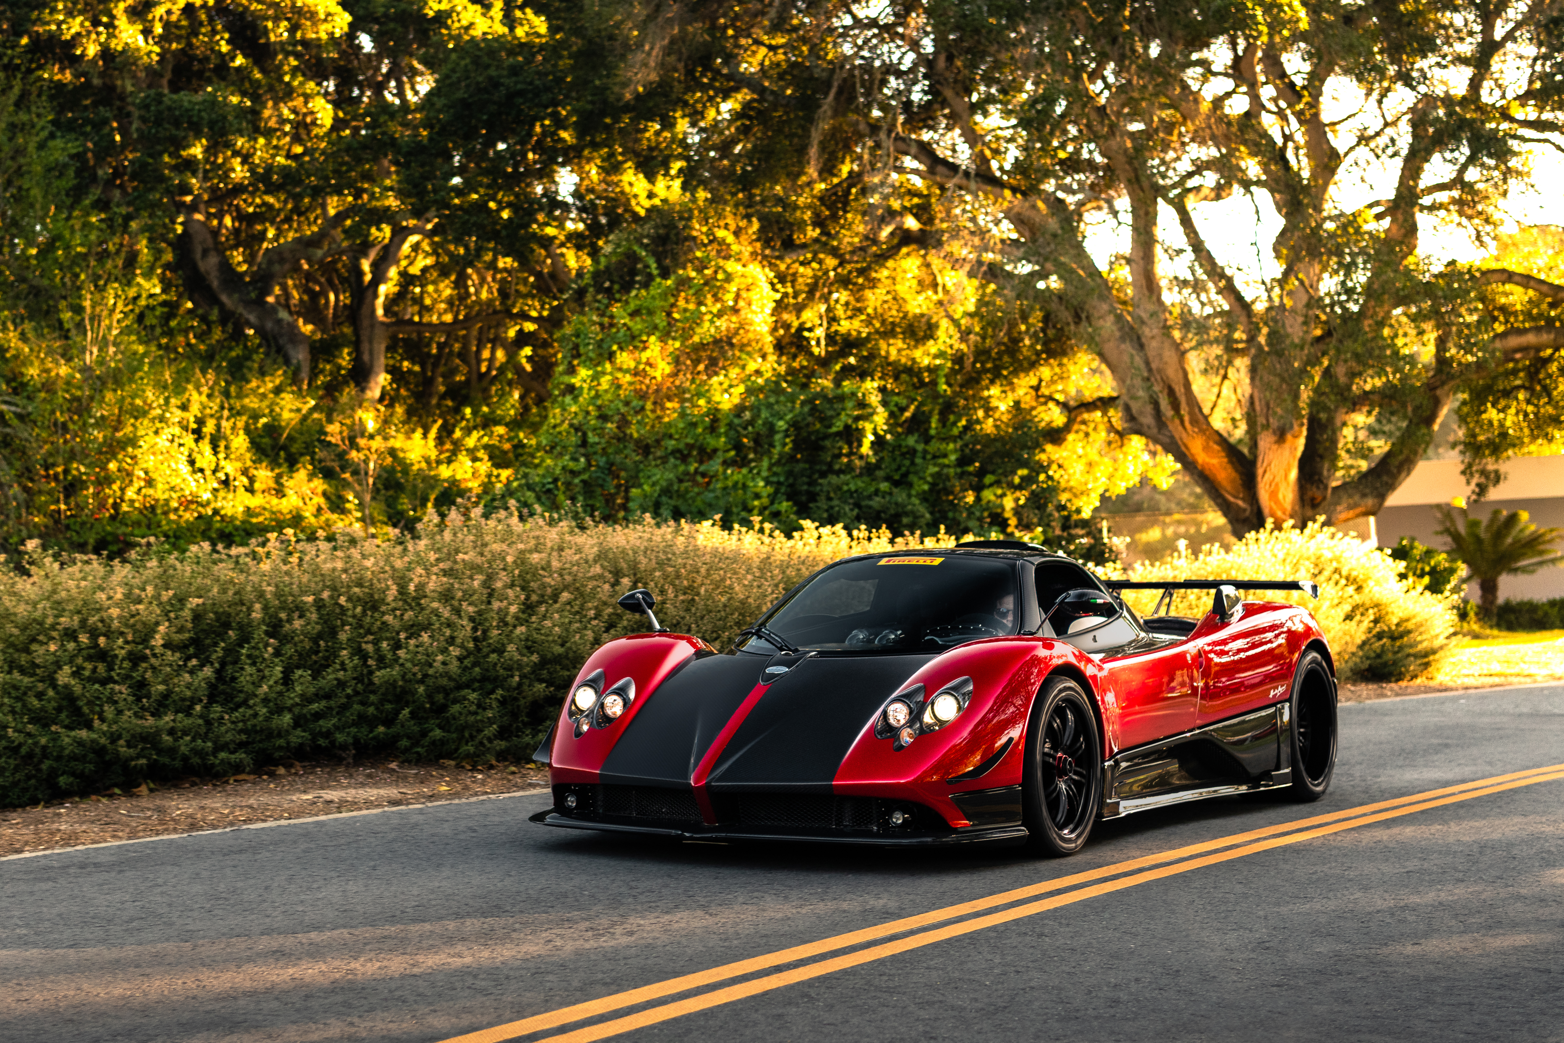
[[[1125,588],[1215,591],[1140,618]],[[845,558],[718,654],[658,627],[582,666],[536,758],[546,826],[701,840],[1028,843],[1201,797],[1325,794],[1336,671],[1303,608],[1101,582],[1015,541]],[[1159,608],[1170,597],[1159,602]]]

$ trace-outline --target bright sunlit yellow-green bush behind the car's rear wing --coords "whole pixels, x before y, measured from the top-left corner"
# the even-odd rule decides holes
[[[1308,594],[1265,593],[1267,600],[1308,607],[1320,621],[1336,658],[1337,674],[1361,680],[1406,680],[1426,672],[1450,647],[1455,629],[1453,596],[1423,590],[1401,565],[1378,550],[1318,522],[1251,532],[1231,547],[1207,546],[1198,555],[1175,555],[1129,571],[1134,580],[1240,579],[1314,580],[1320,599]],[[1150,594],[1150,597],[1146,597]],[[1178,602],[1204,611],[1193,594]],[[1203,594],[1209,600],[1211,594]],[[1154,591],[1131,596],[1148,610]]]

